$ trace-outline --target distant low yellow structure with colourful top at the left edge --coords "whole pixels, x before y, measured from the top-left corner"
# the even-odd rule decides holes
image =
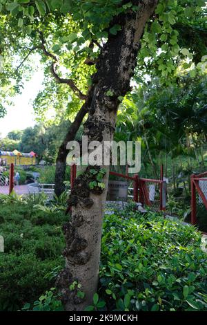
[[[3,151],[0,149],[0,166],[6,166],[12,163],[16,166],[36,165],[36,157],[37,154],[35,154],[33,151],[31,151],[29,154],[26,154],[18,150]]]

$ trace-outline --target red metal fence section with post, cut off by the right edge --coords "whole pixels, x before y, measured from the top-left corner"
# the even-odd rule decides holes
[[[191,175],[191,223],[197,224],[198,207],[205,207],[207,216],[207,171]]]

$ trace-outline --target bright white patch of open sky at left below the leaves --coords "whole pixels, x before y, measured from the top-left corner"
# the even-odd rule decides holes
[[[13,130],[23,130],[35,124],[32,100],[37,96],[43,82],[43,71],[39,69],[32,79],[25,83],[21,95],[14,97],[14,105],[8,107],[7,114],[0,118],[0,133],[5,137]]]

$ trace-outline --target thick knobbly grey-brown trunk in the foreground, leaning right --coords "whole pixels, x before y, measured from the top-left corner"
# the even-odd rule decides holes
[[[119,96],[130,90],[130,77],[134,73],[139,50],[139,40],[144,26],[155,10],[157,0],[133,1],[139,11],[128,12],[115,17],[114,24],[121,25],[117,35],[109,35],[97,61],[97,73],[92,77],[92,102],[84,135],[88,141],[101,144],[113,139]],[[110,90],[112,95],[108,96]],[[66,310],[83,310],[91,304],[97,291],[103,209],[108,188],[108,172],[103,177],[106,187],[90,189],[92,174],[88,166],[77,177],[68,201],[72,208],[70,221],[63,227],[66,237],[66,268],[57,277],[57,287],[62,293]],[[100,169],[102,167],[96,167]],[[85,297],[77,296],[77,283]]]

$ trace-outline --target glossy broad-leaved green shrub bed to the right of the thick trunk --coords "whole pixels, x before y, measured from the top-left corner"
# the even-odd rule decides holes
[[[106,216],[99,285],[106,308],[207,310],[207,255],[200,245],[193,226],[159,214]]]

